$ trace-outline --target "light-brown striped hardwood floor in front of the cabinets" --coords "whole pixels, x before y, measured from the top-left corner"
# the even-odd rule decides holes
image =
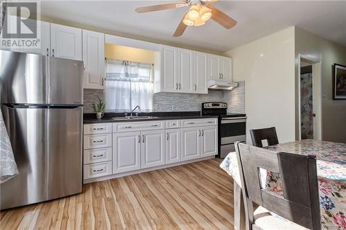
[[[68,198],[2,211],[0,229],[233,229],[219,159],[84,184]]]

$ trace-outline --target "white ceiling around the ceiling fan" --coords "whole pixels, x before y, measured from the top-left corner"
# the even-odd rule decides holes
[[[215,21],[188,27],[172,37],[188,8],[138,14],[138,6],[167,1],[42,1],[43,17],[113,30],[131,36],[224,52],[266,35],[298,26],[346,46],[346,1],[217,1],[213,3],[238,21],[226,30]]]

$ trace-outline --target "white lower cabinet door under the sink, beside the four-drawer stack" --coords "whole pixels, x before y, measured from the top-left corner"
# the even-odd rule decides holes
[[[113,133],[113,173],[140,169],[140,132]]]

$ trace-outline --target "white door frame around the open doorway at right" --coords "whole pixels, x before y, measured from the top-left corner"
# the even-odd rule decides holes
[[[314,113],[319,113],[318,117],[320,117],[320,119],[316,120],[316,118],[314,118],[313,120],[313,139],[316,139],[316,140],[322,140],[322,59],[318,59],[316,57],[311,57],[311,55],[301,55],[301,54],[298,54],[298,100],[299,100],[299,106],[298,106],[298,110],[299,110],[299,118],[298,118],[298,121],[299,121],[299,140],[301,140],[301,137],[302,137],[302,130],[301,130],[301,98],[300,98],[300,61],[304,59],[304,60],[307,60],[309,62],[311,62],[311,65],[315,65],[315,64],[319,64],[320,65],[320,79],[319,79],[319,82],[320,82],[320,103],[319,103],[319,106],[320,106],[320,111],[316,111],[315,107],[316,107],[316,99],[313,99],[313,112]],[[313,75],[314,77],[314,75]],[[315,76],[316,77],[316,76]],[[315,97],[314,95],[314,90],[313,90],[313,98]],[[317,115],[316,115],[317,117]],[[320,134],[318,136],[316,136],[316,126],[319,126],[318,130],[320,130]]]

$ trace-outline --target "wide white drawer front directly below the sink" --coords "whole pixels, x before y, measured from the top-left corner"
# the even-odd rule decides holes
[[[164,121],[157,122],[120,122],[113,123],[113,133],[129,132],[129,131],[147,131],[165,129]]]

